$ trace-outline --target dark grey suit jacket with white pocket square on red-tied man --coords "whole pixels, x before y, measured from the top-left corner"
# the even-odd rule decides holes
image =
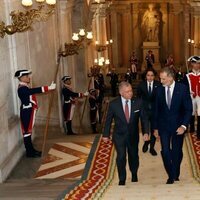
[[[145,111],[142,108],[141,100],[131,100],[130,121],[127,123],[123,110],[121,97],[118,97],[110,102],[103,137],[109,137],[112,120],[114,119],[113,141],[115,144],[123,143],[127,137],[130,143],[138,142],[139,140],[139,118],[141,117],[142,132],[148,133],[148,122]]]

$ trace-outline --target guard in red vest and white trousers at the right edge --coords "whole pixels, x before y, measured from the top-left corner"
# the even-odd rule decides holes
[[[193,113],[190,121],[190,132],[195,132],[194,122],[195,115],[197,115],[197,138],[200,139],[200,56],[191,56],[188,59],[189,66],[192,71],[186,74],[183,82],[189,87]]]

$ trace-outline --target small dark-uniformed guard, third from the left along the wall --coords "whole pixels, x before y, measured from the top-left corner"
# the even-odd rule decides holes
[[[98,115],[98,100],[96,97],[96,90],[90,89],[89,90],[89,104],[90,104],[90,123],[92,127],[93,133],[98,133],[96,130],[97,125],[97,115]]]

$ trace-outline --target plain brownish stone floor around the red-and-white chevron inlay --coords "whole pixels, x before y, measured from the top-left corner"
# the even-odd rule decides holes
[[[92,143],[95,137],[95,134],[90,133],[79,136],[69,136],[58,130],[60,130],[58,127],[49,128],[44,158],[56,143]],[[34,140],[34,145],[37,149],[41,150],[43,146],[44,127],[36,126],[35,131],[37,135]],[[23,156],[7,181],[0,184],[0,199],[56,199],[59,194],[76,182],[77,179],[68,178],[35,179],[35,175],[42,164],[42,160],[43,158],[26,158]]]

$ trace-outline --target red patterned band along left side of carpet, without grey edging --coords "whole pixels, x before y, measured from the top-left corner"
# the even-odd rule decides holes
[[[113,159],[115,160],[113,154],[112,142],[104,143],[100,138],[88,177],[70,191],[64,199],[80,200],[100,197],[113,178],[115,170],[115,162],[112,162]]]

